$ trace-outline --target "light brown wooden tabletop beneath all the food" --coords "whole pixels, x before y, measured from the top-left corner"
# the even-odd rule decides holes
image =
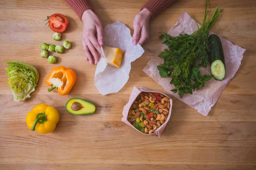
[[[146,0],[91,0],[104,26],[125,23],[133,32],[134,16]],[[204,0],[177,0],[150,22],[145,53],[131,64],[130,79],[117,94],[102,96],[93,83],[96,65],[85,60],[81,34],[83,23],[64,0],[0,1],[0,169],[256,169],[256,1],[209,0],[210,14],[224,8],[212,28],[216,34],[247,50],[241,66],[207,117],[173,99],[170,121],[163,136],[145,136],[121,122],[123,106],[133,86],[166,93],[142,70],[166,33],[186,11],[202,23]],[[61,13],[69,27],[61,42],[52,40],[46,17]],[[59,61],[51,65],[40,57],[40,44],[72,42]],[[40,74],[38,86],[25,102],[14,102],[6,82],[5,61],[20,60],[34,65]],[[70,94],[48,93],[45,79],[59,65],[76,71],[77,82]],[[68,99],[93,102],[96,113],[75,116],[65,110]],[[34,105],[47,103],[61,116],[54,132],[30,131],[26,114]]]

